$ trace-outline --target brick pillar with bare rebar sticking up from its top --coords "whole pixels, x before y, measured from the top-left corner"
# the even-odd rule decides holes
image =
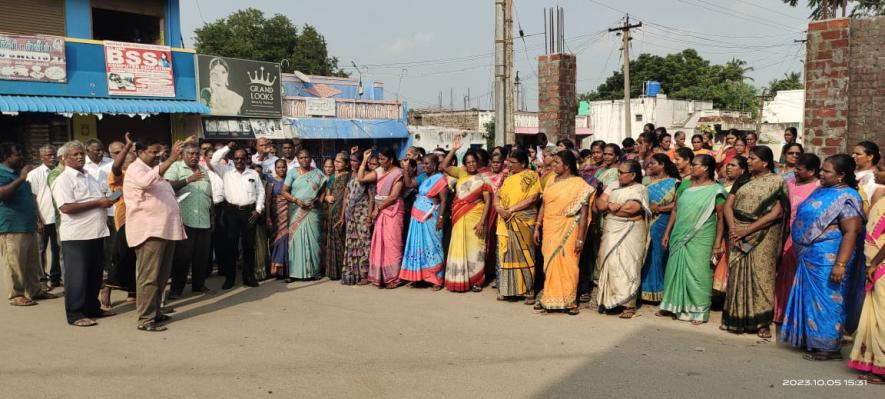
[[[575,141],[576,77],[574,54],[538,57],[538,130],[546,133],[550,142]]]

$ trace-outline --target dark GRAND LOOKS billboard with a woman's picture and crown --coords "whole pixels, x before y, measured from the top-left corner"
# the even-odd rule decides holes
[[[218,116],[281,118],[280,64],[197,55],[197,91]]]

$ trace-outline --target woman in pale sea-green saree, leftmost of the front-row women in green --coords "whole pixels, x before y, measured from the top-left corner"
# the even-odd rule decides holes
[[[311,167],[310,152],[298,151],[297,168],[286,175],[283,192],[289,202],[289,278],[314,280],[322,275],[320,201],[326,185],[323,171]]]

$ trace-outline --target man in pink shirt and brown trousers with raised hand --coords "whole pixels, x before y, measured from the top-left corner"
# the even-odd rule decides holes
[[[175,143],[161,164],[160,143],[136,143],[138,158],[129,165],[123,181],[126,241],[135,248],[135,309],[142,331],[165,331],[162,323],[169,320],[161,311],[163,291],[172,273],[175,241],[186,237],[175,191],[163,174],[181,156],[182,144]]]

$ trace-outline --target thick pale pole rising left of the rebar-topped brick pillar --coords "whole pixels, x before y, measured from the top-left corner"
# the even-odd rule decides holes
[[[495,145],[513,136],[513,0],[495,0]]]

